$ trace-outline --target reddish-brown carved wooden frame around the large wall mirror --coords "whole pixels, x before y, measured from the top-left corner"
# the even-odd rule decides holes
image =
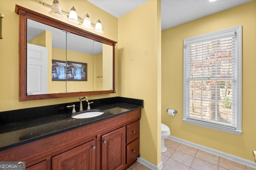
[[[15,12],[19,15],[19,101],[42,100],[53,98],[67,98],[76,96],[90,96],[97,94],[115,93],[115,45],[112,41],[100,35],[96,35],[84,29],[80,29],[68,23],[34,12],[22,6],[15,6]],[[56,94],[27,95],[27,19],[38,21],[71,33],[86,37],[113,47],[113,90],[91,91],[91,92],[70,92]]]

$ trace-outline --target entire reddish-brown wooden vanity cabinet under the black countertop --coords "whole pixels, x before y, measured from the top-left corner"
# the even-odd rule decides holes
[[[139,154],[141,109],[0,151],[27,170],[124,170]]]

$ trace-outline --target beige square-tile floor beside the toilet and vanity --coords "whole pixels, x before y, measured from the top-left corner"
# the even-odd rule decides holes
[[[165,145],[167,150],[162,153],[162,170],[256,170],[170,139],[165,140]],[[150,169],[135,162],[127,170]]]

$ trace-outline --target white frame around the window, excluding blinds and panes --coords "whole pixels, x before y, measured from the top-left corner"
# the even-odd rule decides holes
[[[187,47],[188,44],[191,43],[200,43],[204,41],[211,41],[217,39],[216,37],[220,37],[230,32],[236,32],[236,125],[235,129],[229,129],[225,127],[221,127],[219,124],[207,123],[205,121],[200,120],[191,120],[188,119],[189,110],[187,110],[188,106],[188,69],[187,69]],[[242,133],[242,26],[236,26],[228,29],[223,29],[220,31],[215,31],[212,33],[206,33],[204,35],[198,35],[195,37],[186,38],[183,40],[183,121],[184,123],[198,125],[200,127],[206,127],[210,129],[215,129],[218,131],[224,131],[228,133],[233,133],[236,135],[240,135]]]

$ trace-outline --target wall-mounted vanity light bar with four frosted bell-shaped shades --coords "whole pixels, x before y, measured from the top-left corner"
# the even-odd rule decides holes
[[[95,32],[103,33],[102,25],[101,25],[100,20],[97,20],[95,25],[92,24],[91,21],[90,21],[90,17],[88,15],[88,13],[84,16],[84,20],[82,20],[82,18],[80,16],[77,16],[76,9],[74,8],[74,6],[70,9],[70,13],[67,13],[67,12],[64,12],[64,11],[61,10],[59,0],[53,0],[52,6],[50,6],[50,5],[48,5],[44,2],[41,2],[41,1],[39,3],[43,4],[44,6],[48,6],[48,7],[52,8],[52,10],[49,12],[49,14],[51,16],[54,16],[54,17],[57,17],[57,18],[63,18],[62,14],[61,14],[61,13],[63,13],[63,14],[66,14],[68,16],[67,21],[69,21],[71,23],[82,25],[82,27],[85,27],[87,29],[92,29],[92,26],[94,26],[95,27],[95,29],[94,29]]]

